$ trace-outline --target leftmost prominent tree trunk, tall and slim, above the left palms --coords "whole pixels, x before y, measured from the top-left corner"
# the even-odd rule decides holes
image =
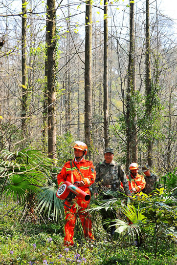
[[[22,132],[26,135],[27,115],[27,59],[26,59],[26,1],[22,0]]]

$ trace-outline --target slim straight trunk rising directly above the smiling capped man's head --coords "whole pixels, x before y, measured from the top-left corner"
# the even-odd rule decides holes
[[[103,110],[105,148],[109,143],[108,124],[108,2],[104,0],[104,75],[103,75]]]

